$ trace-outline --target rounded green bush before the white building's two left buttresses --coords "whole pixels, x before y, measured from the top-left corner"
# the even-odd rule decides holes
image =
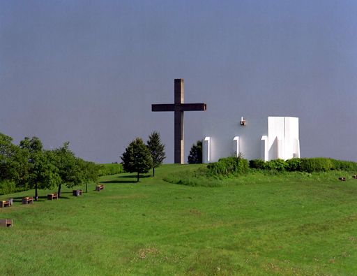
[[[208,164],[208,175],[239,175],[248,171],[248,160],[241,157],[221,158],[218,162]]]

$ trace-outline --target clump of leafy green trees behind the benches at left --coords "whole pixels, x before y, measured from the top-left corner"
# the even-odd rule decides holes
[[[0,190],[38,189],[58,187],[61,196],[62,184],[74,187],[96,181],[99,166],[84,161],[69,150],[69,143],[55,150],[44,150],[39,138],[25,137],[19,145],[0,133]]]

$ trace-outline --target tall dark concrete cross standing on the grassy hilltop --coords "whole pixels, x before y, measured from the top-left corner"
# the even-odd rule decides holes
[[[183,103],[184,90],[183,79],[175,79],[175,101],[174,103],[153,104],[151,111],[174,111],[174,161],[175,164],[184,163],[184,143],[183,143],[183,112],[184,111],[205,111],[206,103]]]

